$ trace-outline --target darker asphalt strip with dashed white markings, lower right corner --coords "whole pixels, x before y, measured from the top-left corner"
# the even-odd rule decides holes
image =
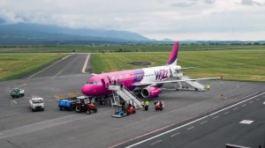
[[[193,121],[172,126],[163,133],[140,139],[127,147],[220,147],[237,144],[265,146],[265,93],[256,93]],[[125,146],[125,145],[124,145]]]

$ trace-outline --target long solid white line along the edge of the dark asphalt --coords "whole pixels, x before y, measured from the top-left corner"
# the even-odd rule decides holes
[[[178,130],[178,129],[181,129],[181,128],[183,128],[183,127],[186,127],[187,125],[190,125],[190,124],[192,124],[192,123],[194,123],[194,122],[199,122],[199,121],[201,121],[201,120],[207,118],[208,116],[216,115],[216,114],[218,114],[218,113],[220,113],[220,112],[223,112],[223,110],[229,109],[229,108],[231,108],[231,107],[235,107],[235,106],[237,106],[237,105],[239,105],[239,104],[241,104],[241,103],[244,103],[244,102],[246,102],[246,101],[248,101],[248,100],[253,100],[253,99],[256,98],[256,97],[261,96],[262,94],[264,94],[264,93],[260,93],[260,94],[258,94],[258,95],[255,95],[255,96],[249,98],[249,99],[242,100],[242,101],[240,101],[239,103],[236,103],[236,104],[234,104],[234,105],[231,105],[230,107],[225,107],[225,108],[223,108],[223,109],[221,109],[221,110],[219,110],[219,111],[216,111],[215,113],[212,113],[212,114],[210,114],[210,115],[205,115],[205,116],[203,116],[203,117],[201,117],[201,118],[199,118],[199,119],[194,120],[193,122],[188,122],[188,123],[186,123],[186,124],[183,124],[183,125],[178,126],[177,128],[174,128],[174,129],[171,129],[171,130],[164,131],[163,133],[158,134],[158,135],[155,135],[154,137],[149,137],[149,138],[144,139],[144,140],[142,140],[142,141],[140,141],[140,142],[138,142],[138,143],[131,144],[131,145],[129,145],[129,146],[126,146],[126,148],[131,148],[131,147],[133,147],[133,146],[136,146],[136,145],[139,145],[139,144],[145,143],[145,142],[147,142],[147,141],[149,141],[149,140],[152,140],[152,139],[154,139],[154,138],[156,138],[156,137],[161,137],[161,136],[163,136],[163,135],[165,135],[165,134],[168,134],[168,133],[170,133],[170,132],[172,132],[172,131],[174,131],[174,130]]]

